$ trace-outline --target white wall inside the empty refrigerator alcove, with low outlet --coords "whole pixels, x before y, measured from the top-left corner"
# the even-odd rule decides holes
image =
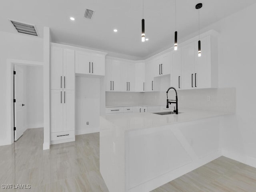
[[[100,78],[76,77],[75,113],[76,135],[99,132]]]

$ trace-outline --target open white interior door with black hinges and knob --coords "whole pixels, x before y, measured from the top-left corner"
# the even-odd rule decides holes
[[[17,141],[25,131],[25,99],[24,98],[24,66],[14,65],[16,75],[14,76],[14,141]]]

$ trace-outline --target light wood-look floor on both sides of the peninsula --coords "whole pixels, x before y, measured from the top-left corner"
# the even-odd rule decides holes
[[[0,146],[0,191],[14,191],[2,184],[31,184],[30,192],[108,192],[99,171],[99,133],[50,150],[42,144],[43,129],[37,128]],[[220,157],[152,192],[256,192],[256,168]]]

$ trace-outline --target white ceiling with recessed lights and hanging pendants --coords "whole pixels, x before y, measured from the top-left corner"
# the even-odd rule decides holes
[[[178,38],[255,3],[255,0],[176,0]],[[86,8],[95,10],[91,20]],[[76,20],[71,21],[70,17]],[[144,0],[145,34],[141,42],[142,0],[7,0],[0,6],[0,31],[16,32],[8,19],[35,24],[40,37],[49,26],[53,42],[64,42],[144,58],[174,43],[174,0]],[[118,29],[117,33],[113,29]]]

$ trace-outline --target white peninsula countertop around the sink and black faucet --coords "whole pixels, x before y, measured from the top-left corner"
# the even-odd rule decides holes
[[[230,112],[186,108],[179,108],[179,112],[180,114],[178,115],[158,115],[151,112],[112,114],[105,118],[123,130],[136,130],[233,114]]]

